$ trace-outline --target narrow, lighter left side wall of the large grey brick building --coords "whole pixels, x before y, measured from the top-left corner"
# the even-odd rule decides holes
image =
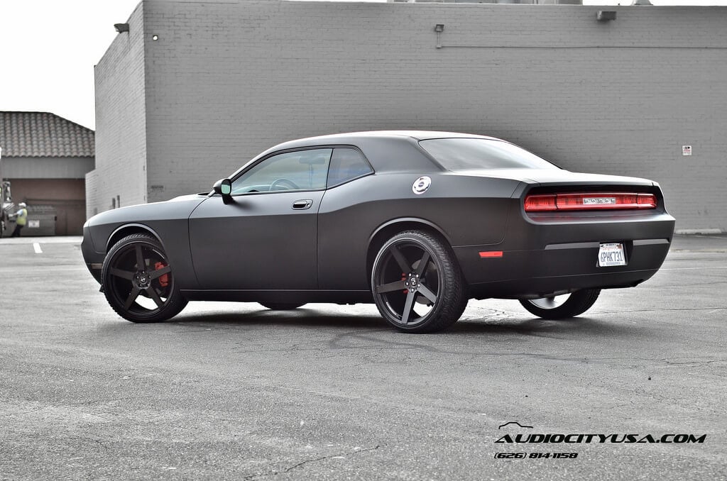
[[[86,177],[88,217],[110,209],[117,196],[122,205],[147,201],[143,22],[139,4],[129,33],[119,33],[95,67],[96,169]]]

